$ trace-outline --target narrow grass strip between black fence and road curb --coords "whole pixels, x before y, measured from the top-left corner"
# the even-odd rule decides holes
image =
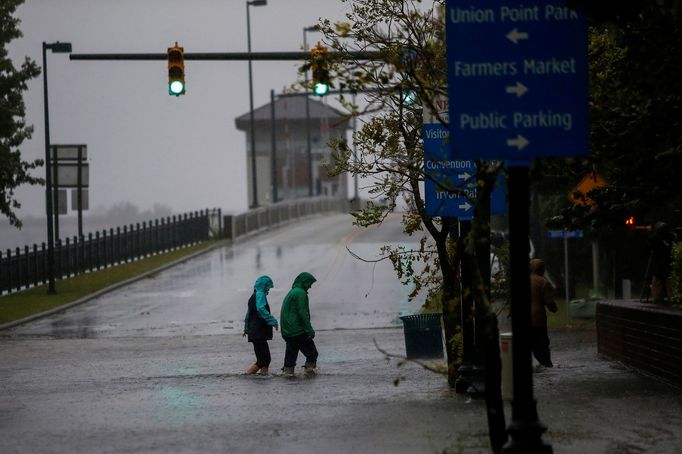
[[[110,285],[125,281],[163,265],[213,246],[215,241],[203,243],[165,254],[146,257],[68,279],[57,279],[55,295],[47,294],[47,284],[0,297],[0,324],[12,322],[72,303]]]

